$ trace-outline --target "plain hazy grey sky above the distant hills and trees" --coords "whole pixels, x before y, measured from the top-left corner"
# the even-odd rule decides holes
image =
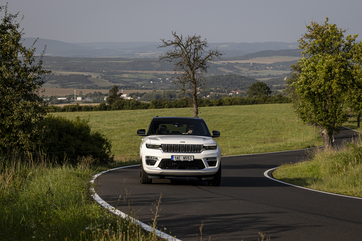
[[[1,1],[5,5],[5,1]],[[11,0],[25,36],[77,42],[153,42],[171,31],[215,42],[295,42],[325,16],[362,38],[361,0]],[[4,16],[4,12],[0,12]],[[19,18],[20,20],[20,18]],[[305,23],[304,23],[305,22]]]

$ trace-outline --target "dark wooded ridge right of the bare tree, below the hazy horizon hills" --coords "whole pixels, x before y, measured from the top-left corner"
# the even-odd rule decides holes
[[[299,49],[292,50],[264,50],[256,53],[249,53],[242,56],[234,57],[225,57],[223,60],[248,60],[257,57],[271,57],[271,56],[292,56],[292,57],[302,57],[302,54],[299,53]]]

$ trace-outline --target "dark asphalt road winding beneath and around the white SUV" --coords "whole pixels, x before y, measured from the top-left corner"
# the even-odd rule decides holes
[[[334,136],[334,145],[353,135],[353,130],[343,128]],[[202,222],[206,240],[258,240],[258,232],[272,240],[361,240],[362,199],[297,188],[264,176],[268,169],[303,158],[304,150],[223,157],[219,187],[196,178],[140,184],[139,166],[123,168],[99,176],[97,193],[128,213],[123,202],[127,189],[136,218],[146,224],[152,223],[150,208],[155,210],[152,202],[162,193],[157,227],[183,241],[200,240]]]

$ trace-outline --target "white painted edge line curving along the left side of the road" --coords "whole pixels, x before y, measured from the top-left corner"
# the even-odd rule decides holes
[[[140,164],[138,165],[131,165],[131,166],[126,166],[126,167],[136,167],[136,166],[139,166]],[[97,173],[96,175],[93,175],[93,179],[90,180],[89,182],[91,183],[94,183],[94,180],[96,180],[97,177],[99,177],[100,175],[102,175],[103,173],[106,173],[106,172],[109,172],[109,171],[113,171],[113,170],[116,170],[116,169],[121,169],[121,168],[126,168],[126,167],[117,167],[117,168],[113,168],[113,169],[109,169],[107,171],[104,171],[104,172],[100,172],[100,173]],[[137,224],[139,226],[141,226],[144,230],[146,230],[147,232],[153,232],[155,231],[155,234],[157,236],[159,236],[160,238],[163,238],[165,240],[169,240],[169,241],[182,241],[178,238],[175,238],[175,237],[172,237],[170,234],[167,234],[167,233],[164,233],[164,232],[161,232],[160,230],[158,229],[154,229],[152,228],[150,225],[147,225],[145,223],[142,223],[141,221],[135,219],[135,218],[132,218],[130,215],[127,215],[125,214],[124,212],[121,212],[119,211],[118,209],[116,209],[115,207],[109,205],[107,202],[105,202],[97,193],[96,191],[94,190],[94,188],[90,188],[89,190],[92,191],[92,198],[98,202],[101,206],[107,208],[109,211],[113,212],[115,215],[118,215],[118,216],[121,216],[121,218],[123,219],[130,219],[132,223],[134,224]]]

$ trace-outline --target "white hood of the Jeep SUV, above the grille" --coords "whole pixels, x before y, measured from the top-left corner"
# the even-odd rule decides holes
[[[144,141],[152,144],[216,144],[212,137],[202,137],[197,135],[155,135],[144,138]]]

